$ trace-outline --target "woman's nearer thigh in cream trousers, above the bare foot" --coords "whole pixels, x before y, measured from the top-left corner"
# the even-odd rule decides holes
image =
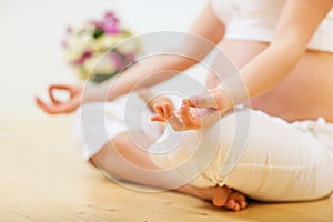
[[[264,201],[312,200],[332,192],[333,154],[313,132],[259,111],[245,109],[236,114],[250,117],[250,128],[242,155],[225,176],[225,184]],[[229,125],[234,122],[226,119],[221,124],[223,121]],[[223,128],[222,132],[228,130]],[[232,155],[232,137],[223,138],[229,142],[221,149]]]

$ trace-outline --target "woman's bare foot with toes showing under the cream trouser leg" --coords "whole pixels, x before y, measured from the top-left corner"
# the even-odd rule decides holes
[[[195,188],[188,185],[179,191],[211,201],[216,208],[241,211],[248,206],[246,196],[226,185],[214,188]]]

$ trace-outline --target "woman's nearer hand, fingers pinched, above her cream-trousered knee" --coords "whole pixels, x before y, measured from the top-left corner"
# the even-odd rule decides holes
[[[218,87],[205,94],[184,99],[181,108],[175,111],[169,103],[155,104],[158,114],[151,120],[168,122],[175,131],[198,130],[211,127],[231,108],[228,92]]]

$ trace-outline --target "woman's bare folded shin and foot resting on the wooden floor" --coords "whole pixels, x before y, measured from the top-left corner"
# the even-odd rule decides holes
[[[138,149],[132,140],[129,139],[129,137],[140,135],[145,138],[142,132],[119,134],[93,155],[90,159],[91,162],[98,168],[125,181],[161,189],[170,188],[172,184],[167,184],[168,182],[165,181],[175,181],[178,179],[171,173],[149,173],[160,169],[153,164],[144,150]],[[145,145],[149,147],[153,141],[147,139],[145,142]],[[226,185],[195,188],[184,184],[183,186],[176,188],[175,191],[211,201],[218,208],[226,208],[233,211],[240,211],[248,205],[246,199],[242,193]]]

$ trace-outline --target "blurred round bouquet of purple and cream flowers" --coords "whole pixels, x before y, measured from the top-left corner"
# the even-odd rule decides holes
[[[83,80],[100,83],[123,71],[134,62],[140,43],[113,12],[101,20],[90,20],[80,27],[68,28],[63,47],[69,64]]]

